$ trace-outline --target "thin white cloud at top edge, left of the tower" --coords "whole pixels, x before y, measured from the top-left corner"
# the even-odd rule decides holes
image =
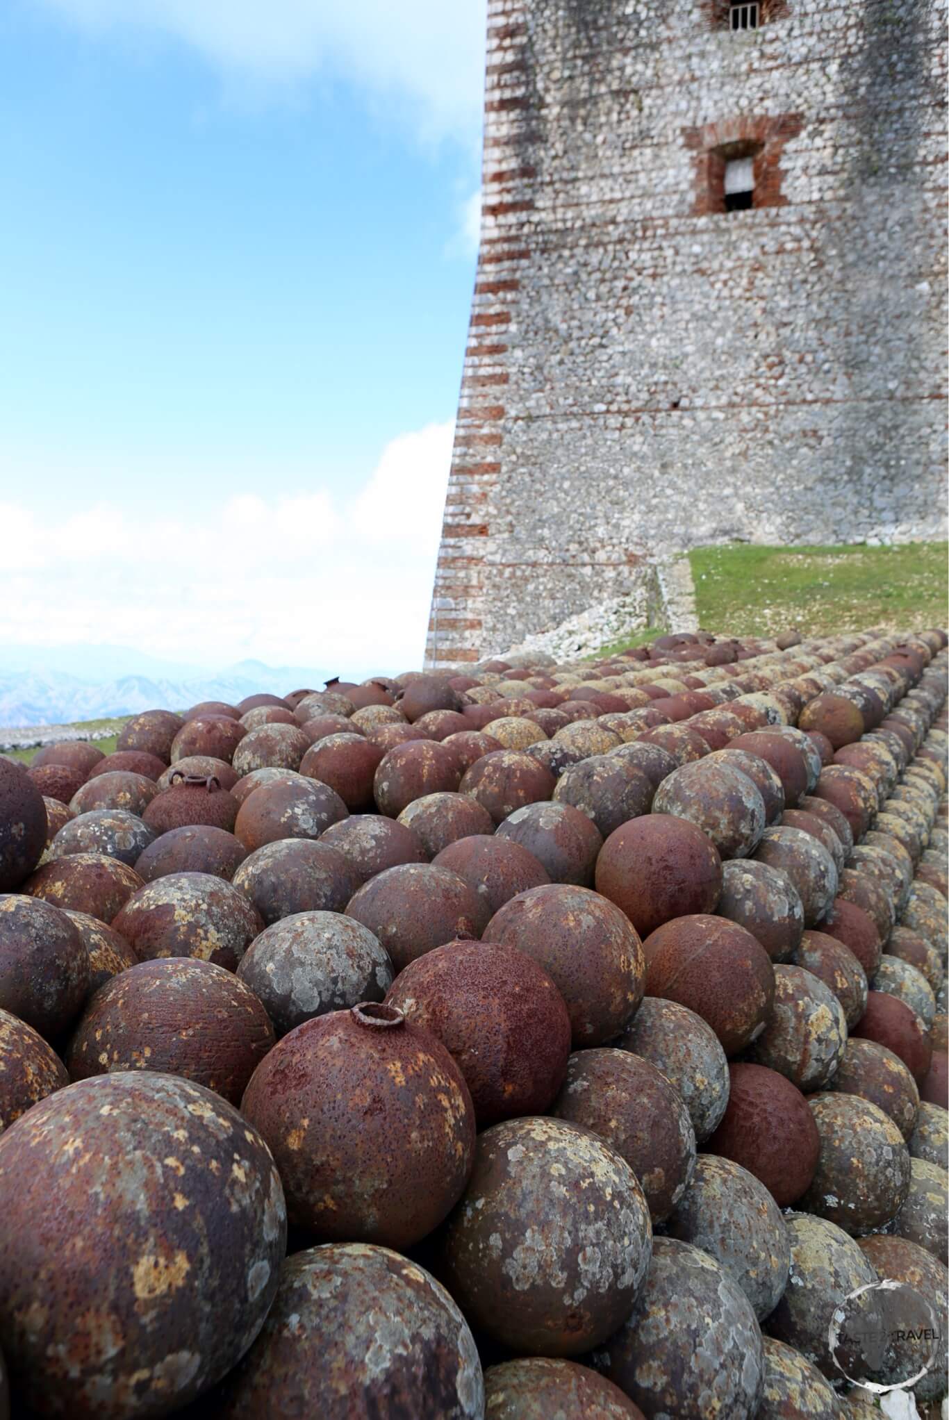
[[[428,136],[477,136],[486,0],[38,0],[94,31],[139,28],[264,81],[340,75],[408,102]]]

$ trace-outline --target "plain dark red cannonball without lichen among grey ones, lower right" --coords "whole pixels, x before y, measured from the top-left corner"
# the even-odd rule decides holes
[[[709,1153],[740,1163],[786,1208],[810,1186],[821,1139],[797,1085],[764,1065],[729,1066],[729,1102]]]

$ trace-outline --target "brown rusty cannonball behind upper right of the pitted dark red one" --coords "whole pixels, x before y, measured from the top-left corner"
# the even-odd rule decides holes
[[[483,932],[551,976],[567,1003],[574,1049],[602,1045],[635,1015],[645,988],[639,937],[612,903],[571,883],[511,897]]]

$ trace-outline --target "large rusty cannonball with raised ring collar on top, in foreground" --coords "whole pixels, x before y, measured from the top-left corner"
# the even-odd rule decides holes
[[[385,1004],[331,1011],[284,1035],[242,1109],[273,1152],[290,1221],[322,1241],[411,1247],[472,1170],[474,1109],[457,1065]]]

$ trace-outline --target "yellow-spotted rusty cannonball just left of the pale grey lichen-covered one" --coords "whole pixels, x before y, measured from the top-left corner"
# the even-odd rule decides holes
[[[233,883],[210,873],[169,873],[143,883],[112,927],[139,961],[195,957],[234,971],[263,923]]]

